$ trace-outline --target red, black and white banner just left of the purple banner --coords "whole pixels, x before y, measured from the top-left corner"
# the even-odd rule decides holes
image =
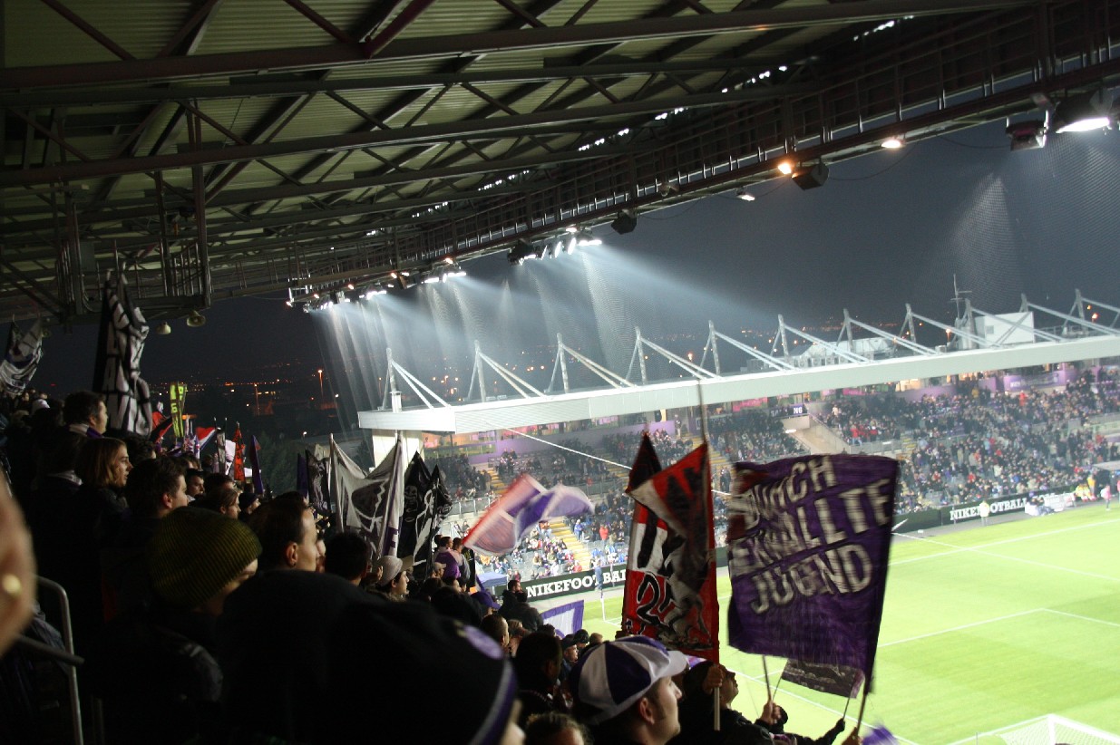
[[[643,436],[633,472],[656,455]],[[623,629],[670,649],[719,660],[719,606],[708,445],[627,491],[637,501],[623,594]]]

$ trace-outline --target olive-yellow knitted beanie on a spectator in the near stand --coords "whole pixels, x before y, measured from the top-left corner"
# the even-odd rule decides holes
[[[256,536],[240,520],[180,508],[160,519],[148,544],[148,573],[160,597],[176,607],[194,609],[260,553]]]

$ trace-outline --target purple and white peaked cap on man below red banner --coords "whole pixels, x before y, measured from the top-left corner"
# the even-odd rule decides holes
[[[577,706],[595,709],[597,725],[628,709],[662,678],[689,667],[688,658],[648,636],[626,636],[592,647],[569,676]]]

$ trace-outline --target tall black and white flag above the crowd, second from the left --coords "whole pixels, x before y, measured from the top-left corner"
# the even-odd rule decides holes
[[[147,437],[151,433],[151,396],[140,377],[140,356],[148,322],[129,302],[123,280],[106,280],[101,300],[101,331],[93,390],[105,397],[109,427]]]

